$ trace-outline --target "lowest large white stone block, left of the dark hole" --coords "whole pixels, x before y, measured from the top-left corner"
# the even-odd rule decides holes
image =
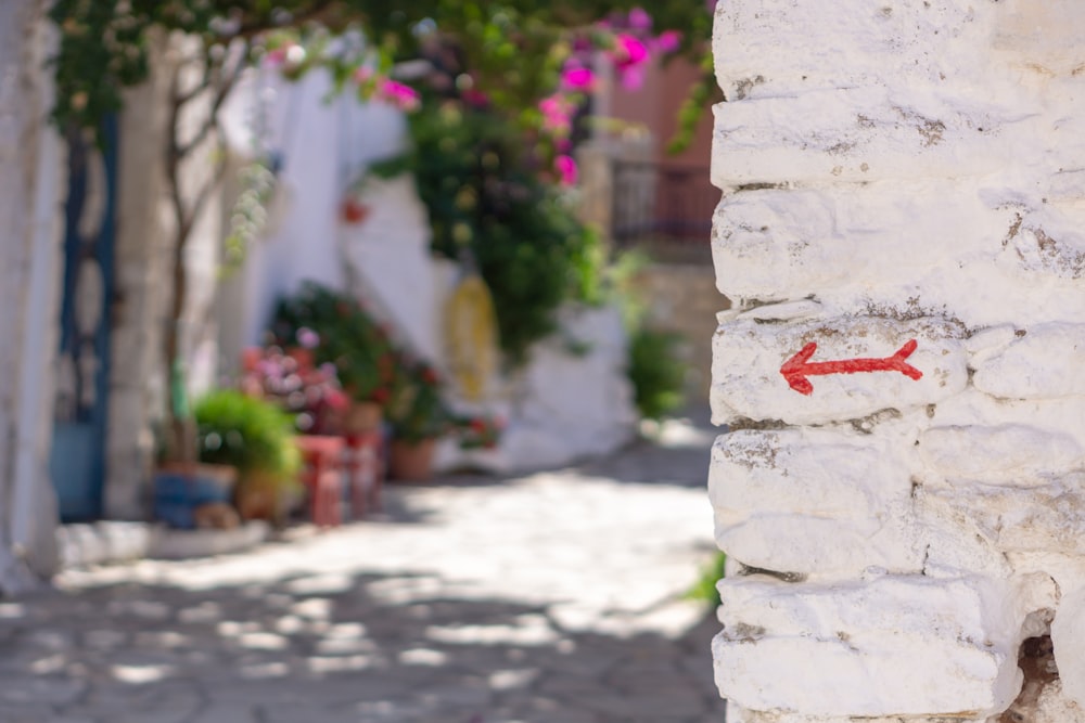
[[[750,577],[719,590],[716,684],[746,709],[969,720],[1004,710],[1021,686],[1021,620],[995,580]]]

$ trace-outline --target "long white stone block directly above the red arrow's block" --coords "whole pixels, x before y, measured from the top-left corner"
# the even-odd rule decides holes
[[[716,210],[717,285],[764,300],[877,281],[879,294],[896,286],[910,296],[932,270],[952,274],[965,259],[995,254],[1017,219],[956,180],[742,191]]]

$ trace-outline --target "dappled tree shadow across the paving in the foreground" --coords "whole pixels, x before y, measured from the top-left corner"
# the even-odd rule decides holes
[[[0,604],[0,720],[723,721],[709,616],[675,640],[575,632],[541,607],[438,589],[426,576],[357,574]]]

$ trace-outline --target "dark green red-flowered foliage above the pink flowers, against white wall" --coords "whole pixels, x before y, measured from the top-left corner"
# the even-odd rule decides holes
[[[335,366],[352,399],[384,404],[396,393],[399,352],[354,297],[307,282],[294,296],[280,299],[271,326],[276,343],[299,346],[306,332],[318,337],[315,361]]]

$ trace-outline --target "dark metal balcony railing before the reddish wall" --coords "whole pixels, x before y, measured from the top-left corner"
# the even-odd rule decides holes
[[[613,162],[611,235],[616,246],[703,248],[719,191],[709,168]]]

